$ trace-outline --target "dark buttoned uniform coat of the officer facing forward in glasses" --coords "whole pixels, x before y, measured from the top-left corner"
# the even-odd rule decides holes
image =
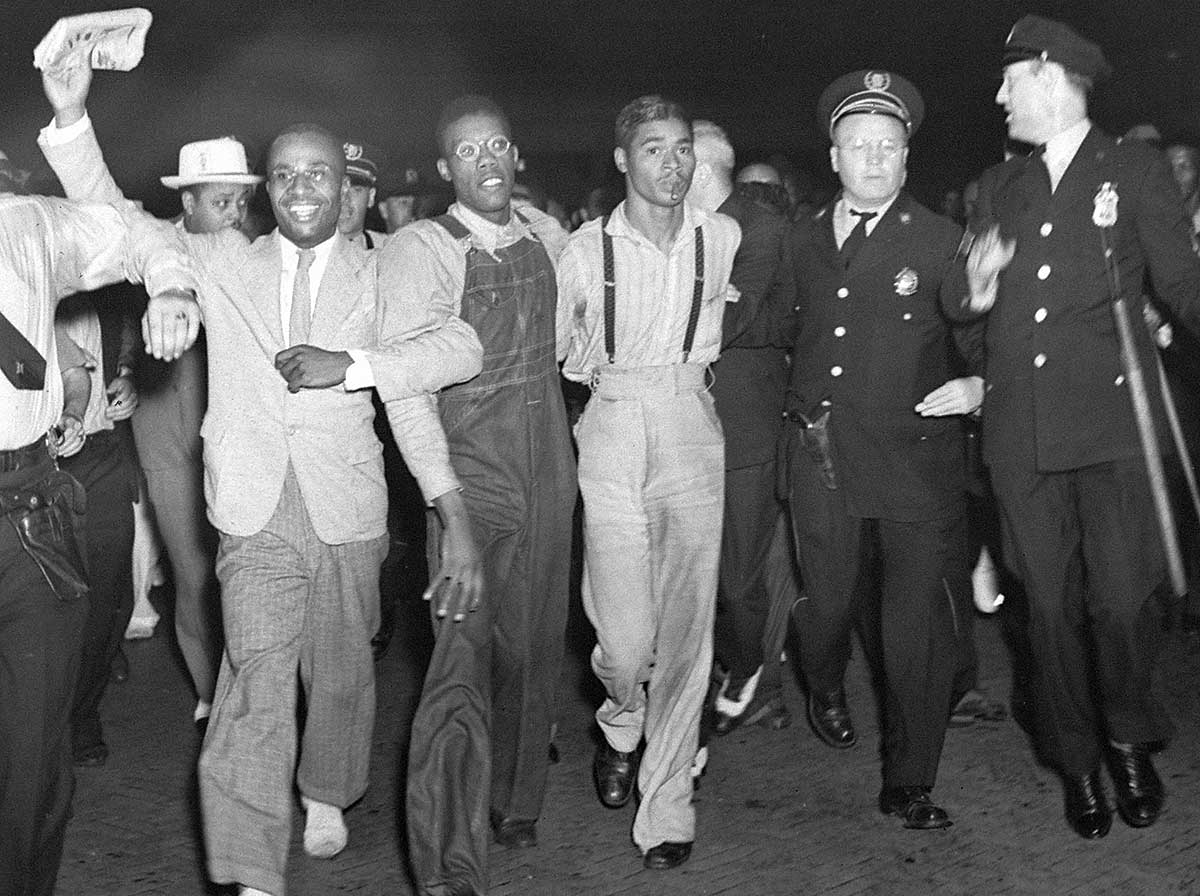
[[[848,269],[833,205],[797,227],[799,335],[787,408],[810,420],[830,411],[834,467],[852,516],[936,519],[962,500],[960,419],[913,410],[955,375],[941,303],[960,299],[943,295],[960,236],[904,192]]]

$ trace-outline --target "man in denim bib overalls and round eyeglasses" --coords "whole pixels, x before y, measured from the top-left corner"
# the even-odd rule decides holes
[[[458,314],[484,371],[439,396],[450,458],[484,553],[484,596],[436,619],[437,645],[413,721],[409,855],[421,894],[487,886],[487,829],[536,843],[566,626],[575,459],[554,355],[558,222],[511,204],[517,148],[491,100],[442,113],[446,215],[397,230],[380,249],[384,295]],[[442,537],[430,521],[430,543]]]

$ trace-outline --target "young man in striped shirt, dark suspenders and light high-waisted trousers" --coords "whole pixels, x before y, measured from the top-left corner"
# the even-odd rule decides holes
[[[678,103],[635,100],[616,136],[626,198],[568,242],[558,339],[564,375],[593,389],[576,438],[583,606],[607,690],[596,790],[618,808],[636,775],[634,842],[646,867],[661,870],[686,861],[695,838],[691,760],[712,667],[725,476],[707,373],[740,231],[684,205],[695,160]]]

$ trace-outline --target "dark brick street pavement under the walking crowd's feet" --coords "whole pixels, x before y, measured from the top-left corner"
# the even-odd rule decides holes
[[[578,614],[576,613],[576,617]],[[307,858],[299,828],[288,870],[292,896],[412,894],[404,871],[401,759],[427,638],[418,608],[401,619],[379,663],[379,721],[371,789],[347,816],[350,844],[334,860]],[[196,808],[199,741],[192,700],[164,615],[150,641],[126,643],[132,676],[104,705],[108,765],[80,769],[67,832],[60,896],[216,896],[205,884]],[[791,896],[792,894],[1200,894],[1200,644],[1172,635],[1159,687],[1178,735],[1158,757],[1168,787],[1159,823],[1133,830],[1120,820],[1098,842],[1073,835],[1057,780],[1039,766],[1012,721],[952,729],[938,801],[954,826],[904,830],[878,813],[877,728],[860,659],[848,696],[859,744],[836,752],[803,718],[790,728],[739,729],[714,742],[697,792],[692,859],[648,872],[630,841],[632,808],[596,801],[589,768],[595,685],[586,624],[576,618],[560,685],[558,746],[551,766],[540,844],[494,849],[492,896]],[[982,678],[1007,696],[1008,660],[994,619],[980,619]],[[298,813],[299,814],[299,813]]]

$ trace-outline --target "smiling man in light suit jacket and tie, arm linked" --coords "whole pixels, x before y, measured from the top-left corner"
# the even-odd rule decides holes
[[[112,196],[86,82],[86,70],[46,77],[55,122],[41,143],[68,196]],[[432,396],[479,372],[479,339],[452,317],[379,300],[373,254],[337,236],[343,187],[342,140],[292,126],[268,161],[278,229],[248,246],[188,237],[210,333],[202,434],[226,625],[200,800],[210,877],[242,894],[284,891],[293,772],[319,858],[346,846],[342,811],[366,789],[388,501],[367,386],[445,525],[426,596],[462,618],[481,584]]]

